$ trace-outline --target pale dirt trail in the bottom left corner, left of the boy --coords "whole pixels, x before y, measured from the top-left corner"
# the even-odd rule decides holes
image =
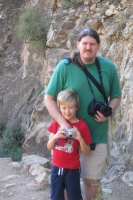
[[[34,178],[10,159],[0,158],[0,200],[49,200],[49,186],[39,185]]]

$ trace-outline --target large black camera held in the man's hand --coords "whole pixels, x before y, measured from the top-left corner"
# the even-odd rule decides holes
[[[111,114],[112,114],[111,107],[105,105],[102,102],[98,102],[95,99],[93,99],[88,106],[88,114],[95,116],[97,114],[97,111],[102,113],[105,117],[111,116]]]

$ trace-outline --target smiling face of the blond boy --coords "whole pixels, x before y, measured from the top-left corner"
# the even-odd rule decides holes
[[[60,111],[63,117],[70,122],[76,122],[76,119],[77,119],[76,110],[77,110],[77,107],[75,103],[60,105]]]

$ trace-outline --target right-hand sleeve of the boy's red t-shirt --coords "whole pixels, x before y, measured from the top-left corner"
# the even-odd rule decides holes
[[[82,129],[81,135],[82,135],[86,144],[92,143],[90,129],[88,128],[88,126],[85,122],[84,122],[84,127]]]

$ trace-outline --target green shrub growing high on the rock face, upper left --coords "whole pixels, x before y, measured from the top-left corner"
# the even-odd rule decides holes
[[[19,38],[28,41],[32,49],[43,50],[46,47],[49,25],[49,19],[42,17],[36,8],[28,8],[21,15],[16,31]]]

